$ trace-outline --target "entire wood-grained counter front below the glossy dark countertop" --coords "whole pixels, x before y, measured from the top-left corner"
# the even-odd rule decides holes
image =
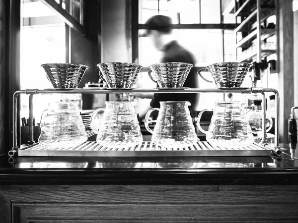
[[[298,222],[298,186],[0,186],[0,195],[13,223]]]

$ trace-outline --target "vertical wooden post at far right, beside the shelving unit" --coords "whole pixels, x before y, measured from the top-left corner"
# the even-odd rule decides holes
[[[294,106],[293,0],[278,0],[280,141],[288,143],[288,118]]]

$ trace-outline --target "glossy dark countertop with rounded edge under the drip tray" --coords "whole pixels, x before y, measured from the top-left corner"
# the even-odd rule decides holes
[[[298,185],[298,146],[281,157],[0,156],[0,184]]]

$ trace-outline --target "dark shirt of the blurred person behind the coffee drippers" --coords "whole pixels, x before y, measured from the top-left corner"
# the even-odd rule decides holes
[[[177,41],[172,41],[164,48],[164,56],[161,62],[185,62],[191,63],[195,65],[195,61],[190,52],[184,49],[181,45],[177,43]],[[158,86],[157,86],[158,87]],[[198,88],[198,75],[195,72],[194,67],[189,71],[189,74],[184,82],[183,87],[189,88]],[[191,103],[189,110],[191,115],[195,115],[193,113],[194,108],[199,103],[199,94],[154,94],[152,101],[150,102],[150,106],[152,108],[160,108],[159,102],[164,101],[188,101]]]

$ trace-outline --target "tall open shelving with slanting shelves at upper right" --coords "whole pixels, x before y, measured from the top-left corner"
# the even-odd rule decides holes
[[[235,53],[237,61],[261,62],[261,60],[267,56],[278,53],[278,22],[274,28],[263,28],[261,26],[261,23],[270,16],[278,16],[277,0],[245,0],[243,4],[234,11],[234,15],[235,18],[237,16],[241,16],[242,18],[241,23],[234,29],[234,38],[236,41]],[[242,34],[244,34],[243,38],[239,41],[237,40],[238,32],[242,32]],[[269,37],[274,35],[277,37],[276,48],[263,48],[262,42],[266,42]],[[256,41],[255,47],[253,47],[253,41]],[[239,54],[237,52],[238,48],[242,48],[242,52],[247,49],[250,49],[252,52]]]

